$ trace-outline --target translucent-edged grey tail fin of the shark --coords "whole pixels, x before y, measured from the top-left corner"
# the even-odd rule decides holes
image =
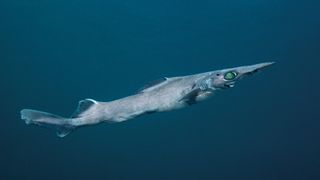
[[[65,137],[75,129],[75,126],[70,124],[70,119],[54,114],[32,109],[23,109],[20,113],[21,119],[24,120],[26,124],[54,128],[57,130],[57,136],[59,137]]]

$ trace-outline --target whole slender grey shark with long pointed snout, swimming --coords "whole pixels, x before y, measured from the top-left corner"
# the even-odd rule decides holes
[[[138,93],[110,102],[85,99],[79,102],[70,118],[23,109],[26,124],[53,127],[64,137],[81,126],[102,122],[122,122],[154,112],[183,108],[208,98],[214,91],[234,86],[235,82],[252,75],[273,62],[210,71],[201,74],[162,78],[142,88]]]

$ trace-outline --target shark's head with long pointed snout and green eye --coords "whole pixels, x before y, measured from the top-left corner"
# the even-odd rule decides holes
[[[243,77],[251,76],[274,62],[260,63],[250,66],[241,66],[229,69],[222,69],[212,72],[210,75],[210,86],[213,89],[226,89],[234,87],[234,84]]]

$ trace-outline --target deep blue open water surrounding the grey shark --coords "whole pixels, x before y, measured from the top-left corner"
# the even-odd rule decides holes
[[[320,3],[298,0],[0,1],[0,179],[320,179]],[[276,61],[178,111],[81,128],[69,116],[163,76]]]

